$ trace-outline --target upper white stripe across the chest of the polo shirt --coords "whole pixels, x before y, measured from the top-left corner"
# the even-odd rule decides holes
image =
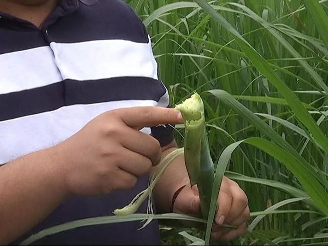
[[[0,73],[0,94],[48,86],[65,79],[158,79],[150,42],[128,40],[51,42],[48,47],[2,54]]]

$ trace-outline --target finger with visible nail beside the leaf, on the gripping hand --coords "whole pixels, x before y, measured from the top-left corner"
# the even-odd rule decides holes
[[[228,217],[232,204],[232,196],[229,188],[222,186],[218,197],[218,211],[215,215],[215,222],[222,225]]]

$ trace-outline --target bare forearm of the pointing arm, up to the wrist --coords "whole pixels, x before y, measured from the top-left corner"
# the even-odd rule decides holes
[[[33,228],[65,199],[57,156],[50,148],[0,167],[1,245]]]

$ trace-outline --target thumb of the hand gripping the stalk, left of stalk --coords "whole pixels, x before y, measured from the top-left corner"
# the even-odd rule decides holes
[[[195,195],[195,192],[190,186],[183,188],[175,199],[173,212],[195,217],[200,216],[199,196]]]

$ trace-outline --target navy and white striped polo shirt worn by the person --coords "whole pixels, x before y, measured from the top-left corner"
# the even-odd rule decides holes
[[[61,0],[42,28],[0,13],[0,165],[69,138],[113,109],[169,104],[147,31],[121,0]],[[142,129],[162,146],[169,127]],[[7,165],[10,165],[7,164]],[[1,171],[1,167],[0,167]],[[145,189],[74,196],[13,244],[61,223],[108,216]],[[138,211],[146,212],[146,204]],[[34,244],[158,244],[158,225],[125,222],[77,228]]]

